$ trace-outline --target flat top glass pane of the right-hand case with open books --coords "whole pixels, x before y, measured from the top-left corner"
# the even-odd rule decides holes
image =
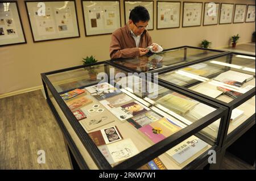
[[[160,73],[159,79],[230,103],[255,87],[255,57],[227,54]]]

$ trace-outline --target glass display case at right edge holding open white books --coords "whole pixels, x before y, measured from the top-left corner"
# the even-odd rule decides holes
[[[222,148],[254,132],[250,141],[240,142],[238,157],[255,163],[255,56],[229,53],[207,61],[159,73],[159,81],[179,87],[229,108]],[[253,143],[253,144],[252,144]],[[245,150],[250,148],[250,151]],[[246,153],[245,153],[246,151]]]

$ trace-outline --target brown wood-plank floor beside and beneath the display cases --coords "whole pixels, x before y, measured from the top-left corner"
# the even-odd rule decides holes
[[[38,150],[46,152],[39,164]],[[71,169],[63,136],[42,91],[0,99],[0,169]],[[227,154],[221,169],[254,169]]]

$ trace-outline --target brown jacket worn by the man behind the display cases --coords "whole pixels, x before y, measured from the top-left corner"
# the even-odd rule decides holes
[[[141,35],[139,48],[146,48],[152,44],[151,36],[145,30]],[[109,47],[110,58],[139,57],[139,48],[136,47],[133,35],[131,35],[128,24],[118,28],[112,33]]]

